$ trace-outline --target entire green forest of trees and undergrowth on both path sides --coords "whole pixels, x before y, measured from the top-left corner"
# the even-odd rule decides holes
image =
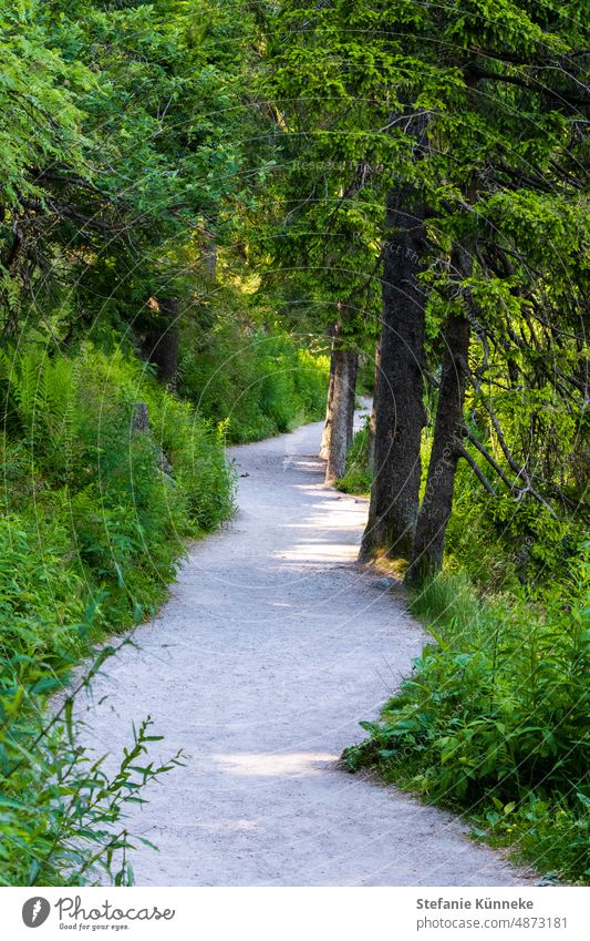
[[[230,519],[225,443],[324,416],[433,635],[350,769],[588,880],[583,16],[0,0],[2,883],[130,881],[182,758],[110,777],[73,697]]]

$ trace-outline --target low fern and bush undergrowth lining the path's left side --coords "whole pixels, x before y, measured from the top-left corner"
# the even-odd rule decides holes
[[[113,653],[105,636],[165,599],[187,538],[231,515],[228,433],[287,430],[323,401],[325,364],[288,337],[234,329],[216,357],[187,354],[192,403],[130,348],[50,355],[33,336],[0,354],[0,884],[132,882],[125,810],[182,763],[145,757],[159,739],[147,717],[105,771],[79,744],[74,700]]]

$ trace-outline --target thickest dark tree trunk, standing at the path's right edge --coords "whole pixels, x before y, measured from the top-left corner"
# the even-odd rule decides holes
[[[369,522],[360,560],[377,552],[408,559],[418,511],[425,296],[418,284],[426,235],[424,205],[411,186],[387,197],[383,260],[381,372]]]

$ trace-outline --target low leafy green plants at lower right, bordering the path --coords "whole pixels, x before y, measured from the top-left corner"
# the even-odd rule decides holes
[[[588,546],[587,546],[588,549]],[[540,599],[478,597],[443,574],[412,601],[436,643],[384,706],[351,769],[376,765],[428,800],[466,808],[480,836],[542,872],[588,881],[590,564]],[[482,829],[484,827],[484,829]]]

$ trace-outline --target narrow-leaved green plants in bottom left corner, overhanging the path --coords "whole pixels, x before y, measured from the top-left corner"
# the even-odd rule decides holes
[[[82,622],[77,630],[87,633]],[[59,689],[61,668],[28,654],[0,653],[0,884],[84,886],[104,878],[133,884],[128,858],[136,839],[125,826],[127,808],[143,804],[144,786],[183,764],[146,763],[151,744],[162,736],[152,720],[133,727],[133,743],[118,768],[106,770],[105,756],[77,744],[74,704],[104,661],[115,651],[103,647],[60,708],[46,718],[44,700]]]

